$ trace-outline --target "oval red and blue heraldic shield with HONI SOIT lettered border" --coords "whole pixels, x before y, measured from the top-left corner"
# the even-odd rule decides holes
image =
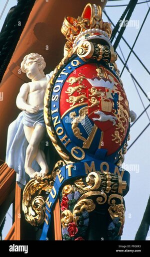
[[[128,136],[128,101],[109,67],[72,59],[55,80],[50,104],[57,137],[65,137],[63,145],[76,160],[100,152],[109,160]]]

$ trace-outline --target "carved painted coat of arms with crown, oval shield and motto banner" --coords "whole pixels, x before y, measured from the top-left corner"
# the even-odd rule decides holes
[[[88,213],[105,203],[110,217],[107,238],[115,234],[118,240],[124,224],[123,196],[129,190],[129,173],[119,167],[129,140],[130,114],[109,41],[111,24],[102,21],[100,6],[87,4],[81,17],[64,18],[61,32],[67,40],[64,58],[46,89],[44,120],[62,160],[50,175],[53,187],[42,213],[41,239],[47,236],[51,210],[61,192],[63,240],[82,238],[79,220],[88,223]]]

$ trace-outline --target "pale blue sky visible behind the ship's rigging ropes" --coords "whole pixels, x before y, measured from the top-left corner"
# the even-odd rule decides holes
[[[138,1],[144,2],[143,1]],[[100,0],[99,0],[100,2]],[[111,1],[107,3],[108,5],[125,5],[128,4],[129,1],[122,0],[122,1]],[[3,7],[6,3],[6,0],[0,0],[0,14],[3,10]],[[90,0],[89,0],[90,3]],[[8,5],[0,19],[0,29],[4,22],[4,19],[7,15],[9,9],[16,5],[15,0],[9,0]],[[148,11],[149,3],[139,4],[135,7],[135,10],[131,16],[131,20],[134,21],[134,25],[132,27],[126,27],[123,37],[126,39],[128,44],[132,46],[136,35],[140,29],[142,21]],[[109,18],[112,20],[114,24],[117,23],[120,16],[122,15],[125,7],[105,7],[105,11]],[[79,11],[79,14],[82,10]],[[67,15],[67,14],[66,14]],[[107,18],[103,14],[103,21],[107,21]],[[143,26],[143,29],[140,33],[140,36],[135,44],[134,52],[138,55],[140,60],[144,63],[144,65],[149,68],[149,24],[150,24],[150,16],[148,15],[146,22]],[[139,27],[138,27],[139,25]],[[113,42],[114,43],[114,42]],[[123,40],[120,41],[120,48],[124,54],[125,59],[129,54],[129,48],[125,45]],[[63,51],[63,49],[62,49]],[[117,48],[117,52],[122,57],[119,48]],[[40,54],[40,53],[39,53]],[[122,70],[122,63],[117,60],[118,69]],[[146,94],[149,93],[150,97],[150,83],[149,83],[149,75],[138,62],[138,60],[131,54],[128,62],[128,67],[130,72],[135,76],[136,80],[139,82],[143,90]],[[50,72],[50,71],[49,71]],[[134,110],[137,116],[143,111],[142,103],[139,99],[135,86],[132,82],[131,76],[126,69],[124,69],[123,74],[121,76],[123,81],[124,89],[127,94],[127,98],[129,101],[130,110]],[[141,90],[138,88],[140,97],[143,101],[144,106],[146,107],[149,104],[149,101],[143,95]],[[147,114],[150,117],[150,107],[147,109]],[[144,127],[149,123],[149,119],[144,113],[139,120],[131,127],[130,136],[131,139],[128,143],[130,145],[136,137],[141,133]],[[133,240],[139,224],[141,222],[148,197],[150,191],[150,175],[149,175],[149,146],[150,146],[150,126],[146,129],[146,131],[142,134],[142,136],[136,141],[136,143],[129,149],[127,154],[125,155],[124,166],[128,167],[130,172],[130,190],[128,194],[125,196],[125,225],[123,230],[123,235],[121,237],[122,240]],[[134,168],[134,169],[132,169]],[[127,168],[126,168],[127,169]],[[11,215],[11,208],[9,210],[9,214]],[[6,223],[3,230],[3,236],[7,234],[9,228],[11,226],[11,218],[7,214],[6,216]],[[150,231],[148,232],[146,240],[150,240]]]

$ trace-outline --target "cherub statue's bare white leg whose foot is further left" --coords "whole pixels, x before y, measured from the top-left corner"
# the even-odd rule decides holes
[[[29,175],[29,177],[32,178],[35,175],[37,175],[37,173],[31,168],[31,165],[33,160],[37,156],[37,153],[39,150],[39,144],[44,137],[45,128],[40,125],[36,125],[35,129],[33,129],[32,127],[24,126],[24,133],[25,133],[26,139],[29,142],[29,145],[26,149],[24,168],[25,168],[25,172]]]

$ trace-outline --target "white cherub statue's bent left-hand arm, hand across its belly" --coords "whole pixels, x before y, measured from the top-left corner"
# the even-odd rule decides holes
[[[29,92],[29,85],[27,83],[24,83],[20,87],[20,91],[16,97],[16,106],[21,110],[24,110],[24,111],[27,111],[30,113],[34,113],[34,112],[38,111],[38,107],[31,106],[26,103],[28,92]]]

